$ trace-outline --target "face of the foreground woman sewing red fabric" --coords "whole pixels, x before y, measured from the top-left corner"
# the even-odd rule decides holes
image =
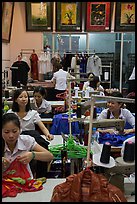
[[[19,127],[12,121],[7,122],[2,128],[2,137],[7,145],[14,145],[20,135]]]

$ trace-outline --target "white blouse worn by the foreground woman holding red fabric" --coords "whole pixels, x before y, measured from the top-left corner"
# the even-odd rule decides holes
[[[33,150],[36,144],[37,142],[35,141],[35,138],[29,135],[20,135],[13,153],[9,150],[7,144],[5,143],[4,157],[9,159],[10,162],[13,162],[18,155]],[[27,164],[27,169],[31,175],[31,178],[33,178],[29,164]]]

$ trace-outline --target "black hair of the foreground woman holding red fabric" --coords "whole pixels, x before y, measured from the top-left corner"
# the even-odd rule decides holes
[[[5,113],[2,116],[2,129],[8,122],[14,123],[20,129],[20,121],[18,116],[15,113]],[[5,149],[5,141],[2,137],[2,156],[4,156],[4,149]]]

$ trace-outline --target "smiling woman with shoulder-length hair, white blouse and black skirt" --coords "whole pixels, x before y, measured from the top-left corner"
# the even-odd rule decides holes
[[[36,139],[38,144],[48,149],[49,143],[45,139],[52,140],[53,135],[49,133],[48,129],[42,123],[39,113],[36,110],[31,110],[30,98],[25,89],[15,90],[12,110],[9,110],[8,113],[15,113],[19,117],[22,130],[21,134],[31,135]],[[35,130],[36,124],[45,135],[45,139]],[[41,169],[43,169],[43,174],[41,173]],[[47,164],[45,162],[37,162],[36,175],[37,177],[47,176]]]

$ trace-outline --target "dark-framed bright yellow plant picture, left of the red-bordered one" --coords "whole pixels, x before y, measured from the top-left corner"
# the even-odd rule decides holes
[[[56,2],[56,31],[81,30],[81,2]]]

